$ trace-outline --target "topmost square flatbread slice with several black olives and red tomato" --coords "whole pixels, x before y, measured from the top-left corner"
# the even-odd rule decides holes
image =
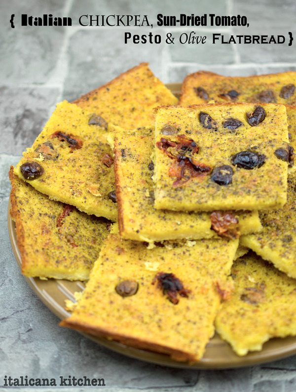
[[[284,105],[160,107],[155,124],[156,209],[258,210],[285,204],[288,162],[276,155],[290,151]]]

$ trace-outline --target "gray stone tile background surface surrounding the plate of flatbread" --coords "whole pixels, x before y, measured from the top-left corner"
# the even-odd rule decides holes
[[[7,172],[32,144],[55,104],[73,100],[122,71],[148,61],[164,82],[180,82],[188,72],[205,69],[225,75],[296,70],[295,45],[205,45],[123,43],[133,34],[172,32],[178,37],[234,34],[296,35],[294,0],[1,0],[0,2],[0,390],[4,375],[104,377],[108,391],[296,390],[296,356],[242,369],[171,369],[113,353],[78,333],[58,327],[21,276],[7,232],[10,184]],[[15,14],[15,29],[10,15]],[[22,13],[71,16],[72,27],[21,27]],[[185,13],[246,15],[249,28],[157,27],[156,15]],[[82,27],[83,14],[148,15],[152,30],[138,27]],[[94,391],[94,388],[85,388]],[[15,388],[15,391],[32,391]],[[44,389],[43,389],[44,390]],[[82,391],[63,388],[63,391]]]

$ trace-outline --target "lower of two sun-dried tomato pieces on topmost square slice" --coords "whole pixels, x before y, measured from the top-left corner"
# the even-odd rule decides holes
[[[191,178],[206,176],[211,169],[205,163],[196,162],[186,156],[178,155],[169,169],[169,177],[177,177],[173,186],[179,187]]]

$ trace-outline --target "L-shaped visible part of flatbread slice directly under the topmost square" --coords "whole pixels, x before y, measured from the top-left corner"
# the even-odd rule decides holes
[[[121,133],[115,138],[114,172],[120,235],[125,239],[148,242],[218,238],[211,228],[210,213],[187,214],[153,207],[153,133],[154,127],[149,127],[129,134]],[[238,236],[260,231],[257,211],[232,214],[237,218],[232,229],[236,229]],[[231,236],[228,230],[223,235]]]

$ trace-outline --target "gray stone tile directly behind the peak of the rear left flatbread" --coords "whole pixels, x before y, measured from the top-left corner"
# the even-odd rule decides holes
[[[141,34],[150,30],[142,29]],[[153,33],[157,34],[158,30]],[[136,33],[135,33],[136,34]],[[104,46],[104,56],[102,55]],[[81,94],[98,88],[123,71],[149,59],[151,70],[161,77],[161,49],[164,43],[139,45],[124,44],[123,30],[112,34],[105,30],[80,30],[70,38],[69,72],[64,98],[73,101]],[[135,58],[136,63],[135,63]]]

